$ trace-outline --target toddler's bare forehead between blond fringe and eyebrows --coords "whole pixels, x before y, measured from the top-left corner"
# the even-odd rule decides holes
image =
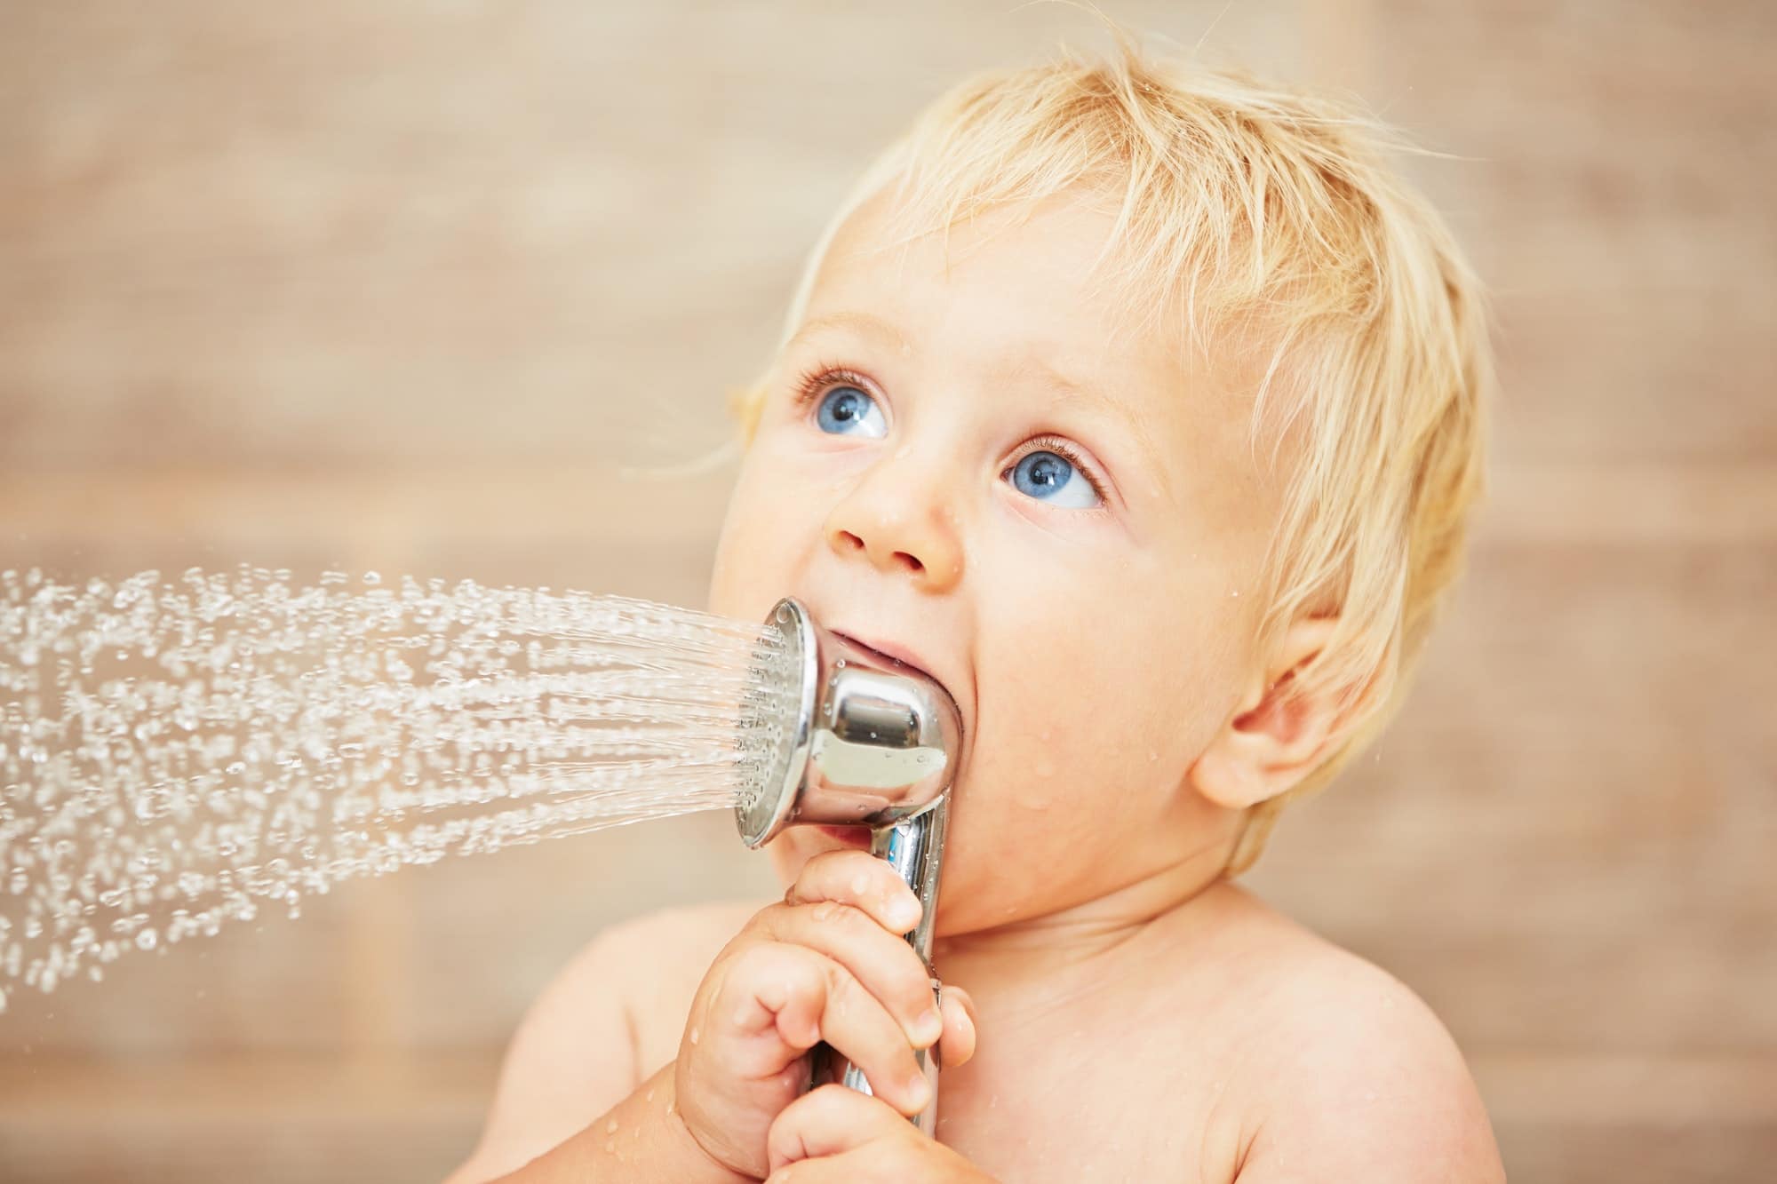
[[[864,338],[984,379],[954,396],[1059,393],[1080,414],[1134,418],[1159,452],[1249,453],[1267,372],[1255,334],[1187,308],[1114,229],[1089,192],[940,228],[878,194],[835,229],[791,340]]]

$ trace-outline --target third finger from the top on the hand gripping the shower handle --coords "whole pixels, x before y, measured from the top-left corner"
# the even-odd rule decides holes
[[[766,942],[748,949],[736,958],[716,1008],[743,1031],[762,1031],[753,1017],[769,1013],[796,1056],[825,1040],[864,1072],[873,1092],[906,1115],[917,1115],[931,1099],[906,1033],[881,1001],[844,965],[807,946]],[[778,1072],[784,1063],[778,1056],[748,1072]]]

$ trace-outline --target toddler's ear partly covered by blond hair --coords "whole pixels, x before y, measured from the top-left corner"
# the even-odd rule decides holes
[[[1315,768],[1338,722],[1336,693],[1287,702],[1283,692],[1297,667],[1327,644],[1335,624],[1336,617],[1299,617],[1290,624],[1230,720],[1192,763],[1187,777],[1198,793],[1240,811],[1285,793]]]

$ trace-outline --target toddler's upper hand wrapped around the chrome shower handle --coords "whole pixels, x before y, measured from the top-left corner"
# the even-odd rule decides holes
[[[766,1134],[801,1095],[809,1049],[826,1042],[903,1115],[928,1102],[913,1049],[942,1036],[942,1063],[974,1052],[967,996],[945,987],[944,1013],[913,948],[919,898],[867,852],[810,859],[782,905],[762,908],[709,967],[673,1070],[691,1136],[723,1166],[768,1170]]]

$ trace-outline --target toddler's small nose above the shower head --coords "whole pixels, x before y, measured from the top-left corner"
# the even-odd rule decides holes
[[[963,548],[945,482],[908,450],[878,460],[826,517],[826,544],[841,558],[867,558],[904,574],[922,592],[944,592],[963,576]]]

